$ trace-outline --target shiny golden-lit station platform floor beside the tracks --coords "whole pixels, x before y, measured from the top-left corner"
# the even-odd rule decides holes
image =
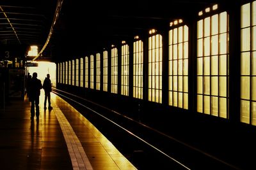
[[[136,169],[75,108],[51,93],[52,110],[30,120],[30,103],[14,100],[0,113],[0,169]]]

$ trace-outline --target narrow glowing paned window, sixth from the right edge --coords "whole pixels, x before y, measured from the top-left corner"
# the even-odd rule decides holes
[[[129,96],[129,46],[122,45],[121,94]]]

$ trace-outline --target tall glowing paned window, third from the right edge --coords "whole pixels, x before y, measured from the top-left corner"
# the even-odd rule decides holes
[[[169,31],[169,105],[188,109],[188,26]]]

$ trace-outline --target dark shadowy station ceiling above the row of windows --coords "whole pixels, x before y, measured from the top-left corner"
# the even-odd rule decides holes
[[[52,27],[51,39],[38,59],[66,60],[143,36],[175,19],[189,20],[216,3],[227,5],[225,0],[1,0],[0,47],[27,50],[38,45],[40,51]]]

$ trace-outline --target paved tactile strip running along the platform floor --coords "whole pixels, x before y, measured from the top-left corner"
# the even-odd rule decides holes
[[[63,136],[67,143],[73,169],[93,169],[86,153],[84,152],[83,146],[76,136],[76,133],[73,131],[71,125],[61,112],[60,108],[54,107],[54,110],[52,111],[60,123],[61,131],[63,132]]]

